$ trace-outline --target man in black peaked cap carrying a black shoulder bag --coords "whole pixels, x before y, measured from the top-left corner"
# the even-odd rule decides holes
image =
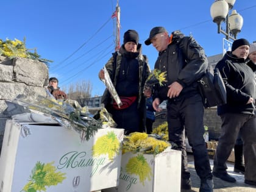
[[[146,45],[151,44],[159,52],[155,69],[166,72],[166,84],[153,90],[153,107],[167,99],[169,142],[173,149],[182,151],[181,188],[191,189],[190,171],[183,131],[193,150],[194,166],[201,179],[199,191],[212,192],[212,169],[204,141],[204,105],[197,80],[205,73],[208,60],[204,49],[193,37],[185,37],[180,31],[169,36],[164,27],[154,27]]]

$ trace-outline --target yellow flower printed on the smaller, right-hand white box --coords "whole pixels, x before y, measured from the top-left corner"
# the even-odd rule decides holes
[[[153,175],[151,167],[142,154],[138,154],[137,156],[129,159],[128,163],[126,164],[126,172],[139,176],[140,182],[143,185],[144,181],[146,179],[151,180]]]

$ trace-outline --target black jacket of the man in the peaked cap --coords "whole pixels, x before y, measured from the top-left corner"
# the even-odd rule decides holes
[[[204,49],[194,40],[193,37],[185,36],[180,31],[172,32],[172,41],[165,51],[159,52],[155,69],[166,71],[167,82],[165,86],[155,85],[154,99],[161,101],[168,99],[168,85],[177,81],[182,85],[183,90],[179,97],[190,97],[199,93],[197,80],[205,73],[208,60]]]

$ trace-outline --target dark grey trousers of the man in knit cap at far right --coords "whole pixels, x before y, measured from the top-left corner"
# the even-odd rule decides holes
[[[244,179],[256,181],[256,117],[241,113],[221,115],[221,136],[213,162],[213,171],[227,172],[226,161],[236,143],[238,134],[243,140]]]

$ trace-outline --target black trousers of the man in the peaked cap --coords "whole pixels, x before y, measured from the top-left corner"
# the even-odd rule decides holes
[[[194,155],[194,167],[200,179],[212,179],[212,169],[204,141],[204,106],[199,94],[188,98],[169,99],[167,104],[169,141],[182,151],[182,179],[189,179],[185,129]]]

